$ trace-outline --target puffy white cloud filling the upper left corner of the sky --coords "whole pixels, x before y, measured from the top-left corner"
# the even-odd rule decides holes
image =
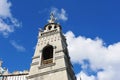
[[[10,7],[12,4],[8,0],[0,0],[0,34],[8,36],[14,32],[16,27],[20,27],[20,23],[13,17]]]

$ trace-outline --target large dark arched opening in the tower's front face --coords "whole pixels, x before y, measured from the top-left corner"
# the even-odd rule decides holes
[[[48,45],[42,51],[42,64],[49,64],[53,62],[53,46]]]

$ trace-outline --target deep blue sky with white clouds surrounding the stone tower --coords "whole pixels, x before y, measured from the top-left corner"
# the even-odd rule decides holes
[[[4,61],[3,66],[10,72],[29,70],[38,28],[48,23],[50,12],[54,11],[69,39],[70,56],[75,53],[71,61],[76,75],[88,80],[119,80],[114,76],[118,68],[112,64],[120,66],[117,57],[120,56],[119,3],[119,0],[0,0],[0,58]],[[81,49],[75,50],[76,46]],[[110,54],[109,57],[106,54]],[[98,62],[94,62],[93,57]],[[100,63],[102,59],[106,63]],[[112,67],[111,77],[105,75],[110,69],[104,64],[110,65],[107,68]]]

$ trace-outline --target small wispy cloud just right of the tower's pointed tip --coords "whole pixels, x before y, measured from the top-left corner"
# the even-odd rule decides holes
[[[65,9],[57,9],[57,8],[51,8],[51,12],[54,13],[55,17],[57,18],[57,20],[62,20],[62,21],[67,21],[68,17],[67,17],[67,13],[65,11]]]

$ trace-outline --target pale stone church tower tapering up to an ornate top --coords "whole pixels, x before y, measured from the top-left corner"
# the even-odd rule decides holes
[[[28,80],[76,80],[62,27],[51,13],[49,23],[40,29]]]

